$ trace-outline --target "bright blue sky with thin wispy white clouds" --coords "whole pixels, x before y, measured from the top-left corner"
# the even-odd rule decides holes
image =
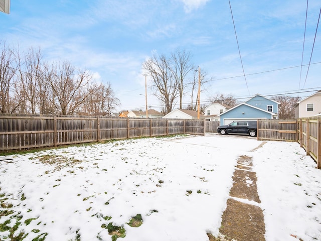
[[[40,47],[46,61],[67,60],[109,81],[118,110],[144,109],[142,63],[178,48],[213,77],[202,90],[205,104],[217,92],[243,101],[256,93],[306,97],[321,89],[320,30],[307,78],[307,66],[301,78],[300,67],[289,68],[301,65],[306,1],[230,3],[246,81],[228,0],[12,0],[10,15],[0,14],[0,40],[21,50]],[[303,65],[310,61],[320,7],[319,0],[308,1]],[[271,71],[277,69],[283,70]],[[158,109],[147,92],[148,105]]]

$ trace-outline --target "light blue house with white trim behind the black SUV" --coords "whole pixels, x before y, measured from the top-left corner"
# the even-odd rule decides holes
[[[279,103],[256,94],[244,103],[221,113],[221,125],[228,125],[236,121],[256,121],[257,119],[273,119],[278,117]]]

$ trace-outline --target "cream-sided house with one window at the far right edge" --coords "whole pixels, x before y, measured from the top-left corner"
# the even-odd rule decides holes
[[[309,117],[321,113],[321,90],[295,104],[295,118]]]

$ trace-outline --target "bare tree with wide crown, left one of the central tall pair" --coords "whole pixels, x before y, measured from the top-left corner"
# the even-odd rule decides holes
[[[152,79],[153,94],[165,105],[165,114],[172,111],[174,101],[180,95],[170,65],[170,60],[164,55],[154,55],[143,63],[143,68]]]

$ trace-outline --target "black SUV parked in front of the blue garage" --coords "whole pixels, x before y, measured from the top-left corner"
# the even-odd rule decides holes
[[[256,136],[256,121],[240,121],[240,122],[232,122],[226,126],[217,127],[217,133],[222,135],[229,133],[242,133],[249,134],[251,137]]]

